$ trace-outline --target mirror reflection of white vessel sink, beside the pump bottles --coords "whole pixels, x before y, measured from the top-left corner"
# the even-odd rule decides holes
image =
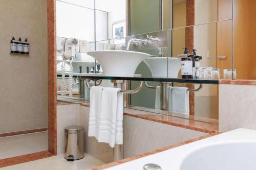
[[[167,57],[150,57],[145,59],[154,78],[167,78]],[[168,57],[168,78],[178,78],[181,60]]]

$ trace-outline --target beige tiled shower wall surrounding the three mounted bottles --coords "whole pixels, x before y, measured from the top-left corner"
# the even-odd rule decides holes
[[[12,36],[29,56],[9,54]],[[47,0],[0,1],[0,57],[0,133],[47,127]]]

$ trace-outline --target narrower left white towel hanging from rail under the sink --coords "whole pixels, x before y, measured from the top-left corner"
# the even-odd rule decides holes
[[[90,114],[88,136],[95,136],[103,87],[93,86],[90,91]]]

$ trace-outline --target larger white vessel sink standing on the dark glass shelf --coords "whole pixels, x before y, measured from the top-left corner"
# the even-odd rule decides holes
[[[150,57],[146,53],[119,50],[93,51],[87,54],[100,63],[104,76],[114,77],[134,77],[140,62]]]

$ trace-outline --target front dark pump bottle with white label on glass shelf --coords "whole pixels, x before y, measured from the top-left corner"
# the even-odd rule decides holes
[[[193,59],[188,54],[187,47],[184,49],[184,55],[178,55],[178,58],[181,59],[181,78],[193,79]]]

